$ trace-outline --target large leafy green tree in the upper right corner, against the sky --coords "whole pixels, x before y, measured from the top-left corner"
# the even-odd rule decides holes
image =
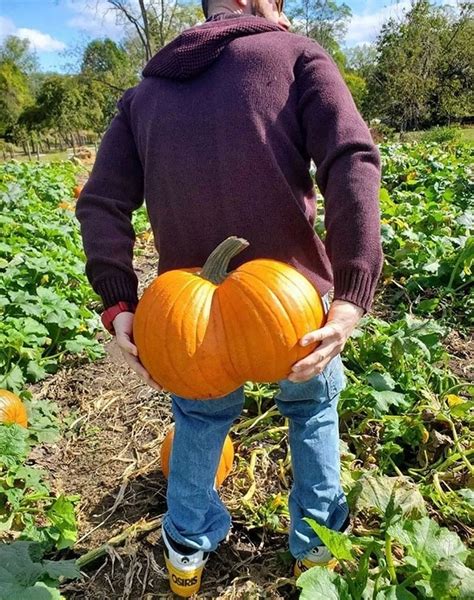
[[[472,4],[416,0],[378,36],[365,112],[404,131],[473,114]]]

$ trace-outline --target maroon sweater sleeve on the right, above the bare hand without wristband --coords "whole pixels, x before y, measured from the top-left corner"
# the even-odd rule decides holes
[[[380,155],[333,60],[316,43],[297,73],[306,150],[324,197],[334,299],[369,311],[382,269]]]

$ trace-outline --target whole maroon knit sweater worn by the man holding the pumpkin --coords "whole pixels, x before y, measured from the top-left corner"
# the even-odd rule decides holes
[[[77,203],[105,307],[136,302],[130,217],[146,199],[158,272],[203,265],[226,237],[368,311],[382,266],[380,159],[339,71],[306,37],[221,15],[154,56],[119,102]],[[326,238],[314,233],[316,180]]]

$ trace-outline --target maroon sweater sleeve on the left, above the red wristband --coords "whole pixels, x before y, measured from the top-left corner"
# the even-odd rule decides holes
[[[76,205],[86,275],[105,308],[119,301],[137,302],[131,217],[143,203],[143,170],[128,120],[132,94],[128,90],[119,101]]]

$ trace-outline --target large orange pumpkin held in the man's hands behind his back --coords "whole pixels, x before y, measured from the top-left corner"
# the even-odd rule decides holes
[[[227,273],[247,246],[230,237],[204,267],[168,271],[145,290],[133,336],[140,361],[164,389],[188,399],[224,396],[245,381],[286,378],[316,347],[298,343],[325,322],[316,289],[271,259]]]

